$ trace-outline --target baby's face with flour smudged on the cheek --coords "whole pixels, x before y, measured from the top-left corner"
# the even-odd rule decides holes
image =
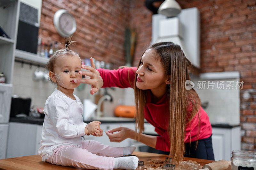
[[[54,67],[54,74],[57,80],[57,85],[66,89],[74,89],[80,83],[75,83],[75,79],[82,78],[78,73],[81,71],[81,59],[78,56],[61,56],[57,59]]]

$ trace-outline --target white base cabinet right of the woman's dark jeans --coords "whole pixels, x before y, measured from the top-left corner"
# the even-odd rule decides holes
[[[212,128],[212,148],[215,160],[230,160],[232,151],[241,150],[241,128]]]

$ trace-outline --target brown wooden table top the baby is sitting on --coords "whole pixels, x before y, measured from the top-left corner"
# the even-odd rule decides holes
[[[135,154],[140,161],[144,161],[144,165],[150,164],[148,159],[165,160],[165,157],[168,156],[168,155],[148,153],[148,152],[133,152],[133,154]],[[185,158],[185,157],[184,157],[184,160],[194,160],[199,164],[201,164],[202,166],[205,164],[214,162],[212,160],[194,159],[194,158]],[[17,158],[0,159],[0,169],[8,169],[8,170],[69,169],[70,170],[70,169],[83,169],[83,168],[52,165],[48,162],[43,162],[40,155],[31,155],[31,156],[23,156],[23,157],[17,157]],[[231,170],[230,166],[228,167],[227,170]]]

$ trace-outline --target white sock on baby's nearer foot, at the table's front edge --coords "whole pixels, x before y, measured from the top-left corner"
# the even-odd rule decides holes
[[[138,162],[139,158],[136,156],[117,157],[114,158],[114,169],[136,169]]]

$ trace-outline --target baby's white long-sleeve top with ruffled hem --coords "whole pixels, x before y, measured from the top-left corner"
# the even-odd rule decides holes
[[[38,150],[43,161],[50,158],[54,149],[59,146],[82,146],[81,136],[85,135],[84,128],[87,124],[82,117],[83,104],[74,96],[76,100],[55,89],[45,102],[42,141]]]

